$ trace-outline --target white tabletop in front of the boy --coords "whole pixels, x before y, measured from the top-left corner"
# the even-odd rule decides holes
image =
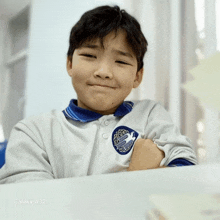
[[[0,185],[1,220],[144,220],[159,193],[220,193],[220,164]]]

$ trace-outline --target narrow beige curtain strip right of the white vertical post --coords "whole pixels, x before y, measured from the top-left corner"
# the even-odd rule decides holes
[[[182,83],[192,80],[189,70],[198,64],[196,49],[200,46],[195,22],[194,1],[182,1]],[[197,150],[197,123],[203,118],[199,101],[182,90],[182,131]],[[196,151],[197,152],[197,151]],[[198,158],[199,159],[199,158]]]

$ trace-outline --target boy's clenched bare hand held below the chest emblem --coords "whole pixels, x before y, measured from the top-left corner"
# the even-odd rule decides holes
[[[164,152],[150,139],[138,139],[134,145],[128,171],[147,170],[160,167]]]

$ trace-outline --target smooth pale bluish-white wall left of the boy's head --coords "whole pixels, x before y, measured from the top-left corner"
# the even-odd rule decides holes
[[[103,4],[118,4],[131,11],[129,1],[123,0],[32,1],[25,117],[63,110],[76,98],[66,72],[69,33],[85,11]]]

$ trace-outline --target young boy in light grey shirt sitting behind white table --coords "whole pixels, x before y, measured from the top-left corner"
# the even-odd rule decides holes
[[[190,141],[160,104],[124,101],[141,83],[147,51],[132,16],[118,6],[95,8],[69,43],[77,100],[13,128],[0,183],[196,164]]]

